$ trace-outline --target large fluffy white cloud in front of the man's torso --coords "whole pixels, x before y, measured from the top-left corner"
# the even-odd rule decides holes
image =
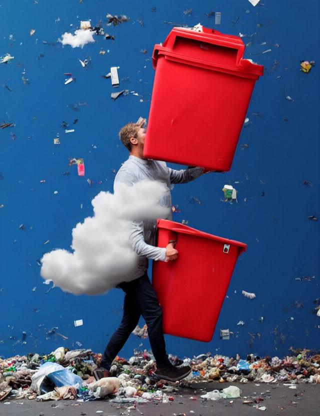
[[[98,193],[91,202],[94,215],[72,229],[73,252],[45,253],[41,276],[73,294],[104,293],[123,281],[138,258],[129,244],[130,220],[165,217],[168,208],[159,205],[164,193],[164,184],[155,181]]]

